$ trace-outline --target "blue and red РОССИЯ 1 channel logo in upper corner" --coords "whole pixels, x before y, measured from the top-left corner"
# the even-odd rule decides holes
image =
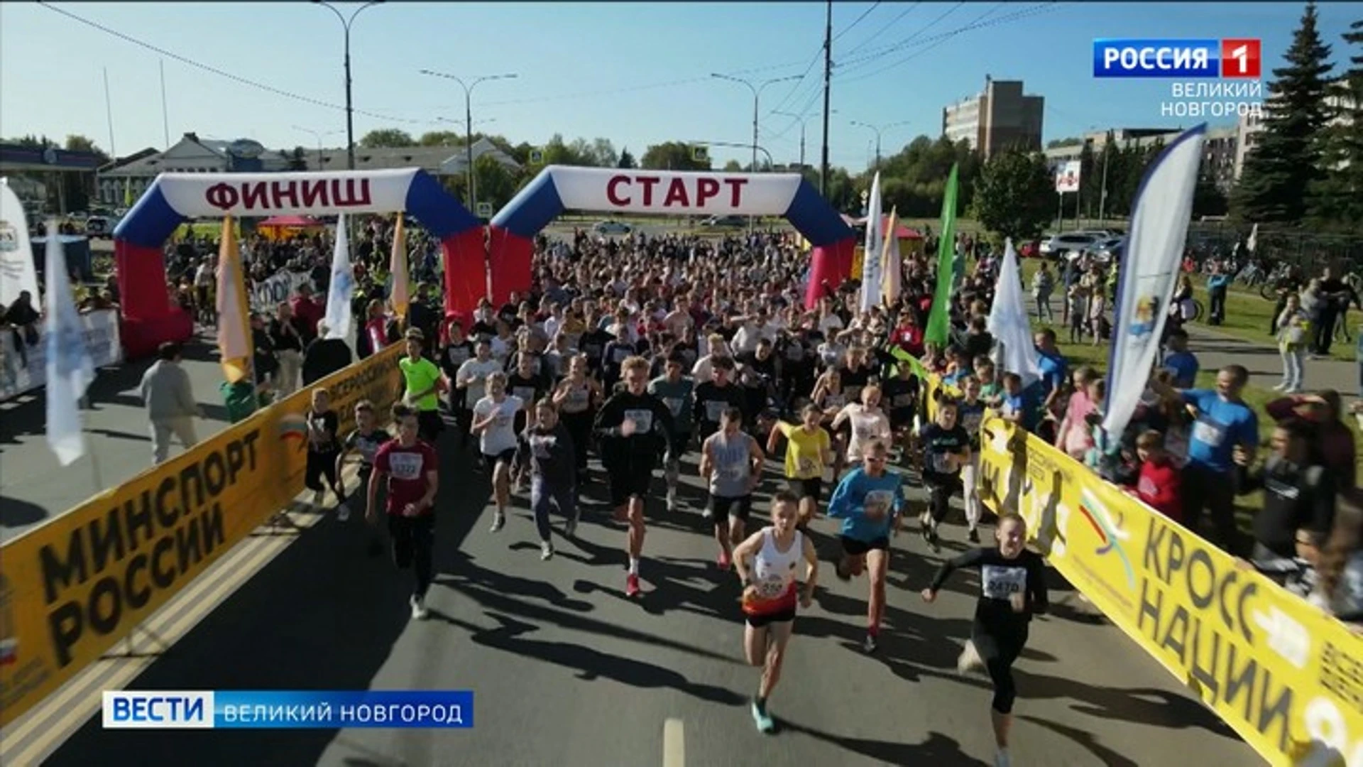
[[[1093,76],[1258,79],[1259,41],[1099,38],[1093,41]]]

